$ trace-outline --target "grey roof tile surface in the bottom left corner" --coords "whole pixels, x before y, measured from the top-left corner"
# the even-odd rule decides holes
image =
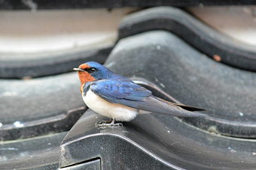
[[[0,169],[58,169],[59,145],[66,134],[0,142]]]

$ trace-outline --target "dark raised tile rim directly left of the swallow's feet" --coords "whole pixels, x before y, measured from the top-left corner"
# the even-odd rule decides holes
[[[4,124],[0,128],[0,141],[32,138],[70,130],[84,113],[84,110],[85,107],[81,107],[70,110],[66,114],[42,118],[36,121],[16,121],[19,122],[20,127],[15,127],[15,123]]]

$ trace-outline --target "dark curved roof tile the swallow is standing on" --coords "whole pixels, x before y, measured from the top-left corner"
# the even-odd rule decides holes
[[[254,169],[254,140],[203,132],[168,115],[139,115],[123,127],[90,109],[60,146],[60,167],[100,158],[102,169]]]

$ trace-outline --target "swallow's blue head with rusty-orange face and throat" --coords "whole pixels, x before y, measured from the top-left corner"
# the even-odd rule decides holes
[[[73,70],[78,71],[81,84],[100,79],[108,79],[113,74],[106,67],[102,66],[102,64],[94,61],[81,64],[78,68],[74,68]]]

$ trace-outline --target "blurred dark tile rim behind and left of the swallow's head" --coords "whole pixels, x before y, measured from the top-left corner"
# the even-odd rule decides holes
[[[68,73],[85,61],[104,63],[112,46],[32,54],[0,54],[0,78],[22,79]]]

